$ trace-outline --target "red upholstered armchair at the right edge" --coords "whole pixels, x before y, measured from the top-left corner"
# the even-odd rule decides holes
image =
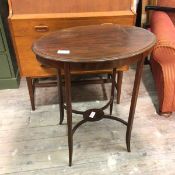
[[[159,114],[175,111],[175,0],[157,0],[150,28],[157,36],[151,57],[151,68],[159,98]]]

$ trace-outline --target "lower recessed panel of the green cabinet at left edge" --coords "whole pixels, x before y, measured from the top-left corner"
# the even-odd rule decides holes
[[[10,78],[11,72],[8,59],[5,54],[0,54],[0,78]]]

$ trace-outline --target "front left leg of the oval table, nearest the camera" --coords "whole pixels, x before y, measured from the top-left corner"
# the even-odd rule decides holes
[[[72,134],[71,75],[70,75],[69,64],[64,65],[64,76],[65,76],[65,100],[66,100],[66,106],[67,106],[69,166],[71,166],[72,154],[73,154],[73,134]]]

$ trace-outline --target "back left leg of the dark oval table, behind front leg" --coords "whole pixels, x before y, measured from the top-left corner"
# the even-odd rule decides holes
[[[63,123],[64,120],[64,101],[63,101],[63,89],[62,89],[62,76],[61,70],[58,69],[57,71],[57,84],[58,84],[58,103],[60,108],[60,125]]]

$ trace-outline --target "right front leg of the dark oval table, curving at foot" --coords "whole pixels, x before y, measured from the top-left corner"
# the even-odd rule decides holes
[[[126,146],[127,146],[128,152],[131,151],[131,148],[130,148],[131,131],[132,131],[135,108],[136,108],[137,97],[139,92],[140,80],[142,77],[144,60],[145,59],[142,58],[141,60],[138,61],[136,74],[135,74],[134,87],[132,92],[131,105],[130,105],[130,111],[129,111],[129,117],[128,117],[127,131],[126,131]]]

